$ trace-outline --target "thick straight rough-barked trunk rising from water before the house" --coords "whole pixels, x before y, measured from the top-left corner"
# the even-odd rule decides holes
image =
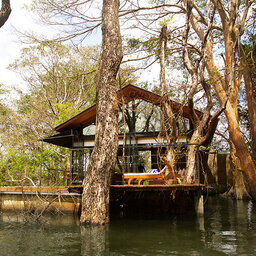
[[[109,222],[109,186],[118,149],[116,75],[122,59],[119,0],[104,0],[102,46],[96,83],[95,146],[84,179],[81,223]]]

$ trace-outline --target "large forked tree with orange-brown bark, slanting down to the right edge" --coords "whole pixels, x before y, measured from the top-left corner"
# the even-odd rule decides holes
[[[186,3],[186,1],[184,0]],[[193,6],[190,0],[187,0]],[[229,9],[227,10],[224,1],[211,0],[214,8],[217,10],[221,19],[221,29],[224,36],[225,47],[225,75],[222,76],[218,70],[213,57],[213,38],[205,41],[205,31],[203,26],[191,14],[190,23],[200,38],[205,44],[205,63],[209,78],[218,96],[221,105],[226,105],[225,115],[228,121],[228,130],[230,139],[235,147],[235,155],[240,160],[239,168],[243,172],[245,184],[249,194],[256,199],[256,168],[248,145],[246,144],[239,128],[237,115],[237,92],[240,86],[239,76],[234,74],[236,65],[236,55],[241,37],[241,30],[245,26],[246,16],[252,2],[247,1],[243,13],[239,12],[240,1],[230,0]],[[242,17],[241,20],[239,17]],[[238,27],[237,25],[238,24]],[[228,90],[231,91],[230,97],[227,100]]]

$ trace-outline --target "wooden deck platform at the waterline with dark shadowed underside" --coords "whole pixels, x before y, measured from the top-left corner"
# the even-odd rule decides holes
[[[111,185],[110,211],[113,216],[133,216],[142,212],[162,216],[180,209],[191,212],[198,205],[195,204],[196,198],[200,198],[203,189],[203,184]],[[47,209],[79,214],[82,191],[82,185],[0,187],[0,210],[29,212],[31,209]]]

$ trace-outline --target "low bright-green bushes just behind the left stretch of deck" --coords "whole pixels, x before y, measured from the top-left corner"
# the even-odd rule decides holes
[[[42,153],[40,150],[9,149],[0,159],[0,185],[32,185],[29,179],[39,185],[40,172],[42,185],[62,184],[68,158],[68,154],[63,158],[63,153],[59,154],[54,146],[47,146]]]

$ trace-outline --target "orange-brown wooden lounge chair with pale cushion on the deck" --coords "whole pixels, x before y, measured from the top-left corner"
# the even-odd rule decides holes
[[[166,167],[158,173],[125,173],[124,179],[128,180],[128,185],[131,185],[132,180],[137,180],[138,185],[141,185],[143,180],[163,180],[165,178],[165,170]]]

